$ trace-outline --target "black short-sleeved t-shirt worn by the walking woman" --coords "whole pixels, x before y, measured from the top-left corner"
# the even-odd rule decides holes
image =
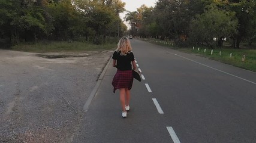
[[[131,70],[131,61],[134,61],[134,55],[130,51],[127,55],[120,55],[121,51],[115,51],[113,59],[116,60],[118,70]]]

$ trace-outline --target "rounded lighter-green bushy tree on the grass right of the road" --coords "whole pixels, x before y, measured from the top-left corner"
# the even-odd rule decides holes
[[[210,5],[203,14],[192,20],[189,39],[194,44],[218,45],[218,39],[222,41],[236,33],[237,24],[234,13]]]

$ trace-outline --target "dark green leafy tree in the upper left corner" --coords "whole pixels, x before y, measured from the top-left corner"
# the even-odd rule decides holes
[[[44,10],[35,1],[0,1],[2,22],[1,33],[9,36],[11,43],[19,43],[20,37],[25,41],[36,40],[39,33],[47,33]]]

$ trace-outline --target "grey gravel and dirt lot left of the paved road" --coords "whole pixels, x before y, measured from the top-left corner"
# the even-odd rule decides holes
[[[111,55],[0,50],[0,142],[73,142]]]

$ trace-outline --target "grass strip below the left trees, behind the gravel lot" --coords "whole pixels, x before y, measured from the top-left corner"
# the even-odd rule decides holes
[[[77,41],[44,41],[37,43],[20,43],[19,45],[12,46],[11,49],[25,52],[85,52],[113,50],[116,46],[116,43],[95,45],[89,42]]]

